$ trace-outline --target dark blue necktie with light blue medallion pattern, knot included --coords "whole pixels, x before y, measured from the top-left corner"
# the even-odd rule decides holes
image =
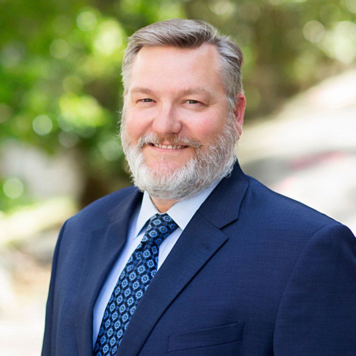
[[[106,306],[94,356],[116,354],[137,304],[157,272],[159,246],[177,227],[168,214],[156,214],[150,219]]]

